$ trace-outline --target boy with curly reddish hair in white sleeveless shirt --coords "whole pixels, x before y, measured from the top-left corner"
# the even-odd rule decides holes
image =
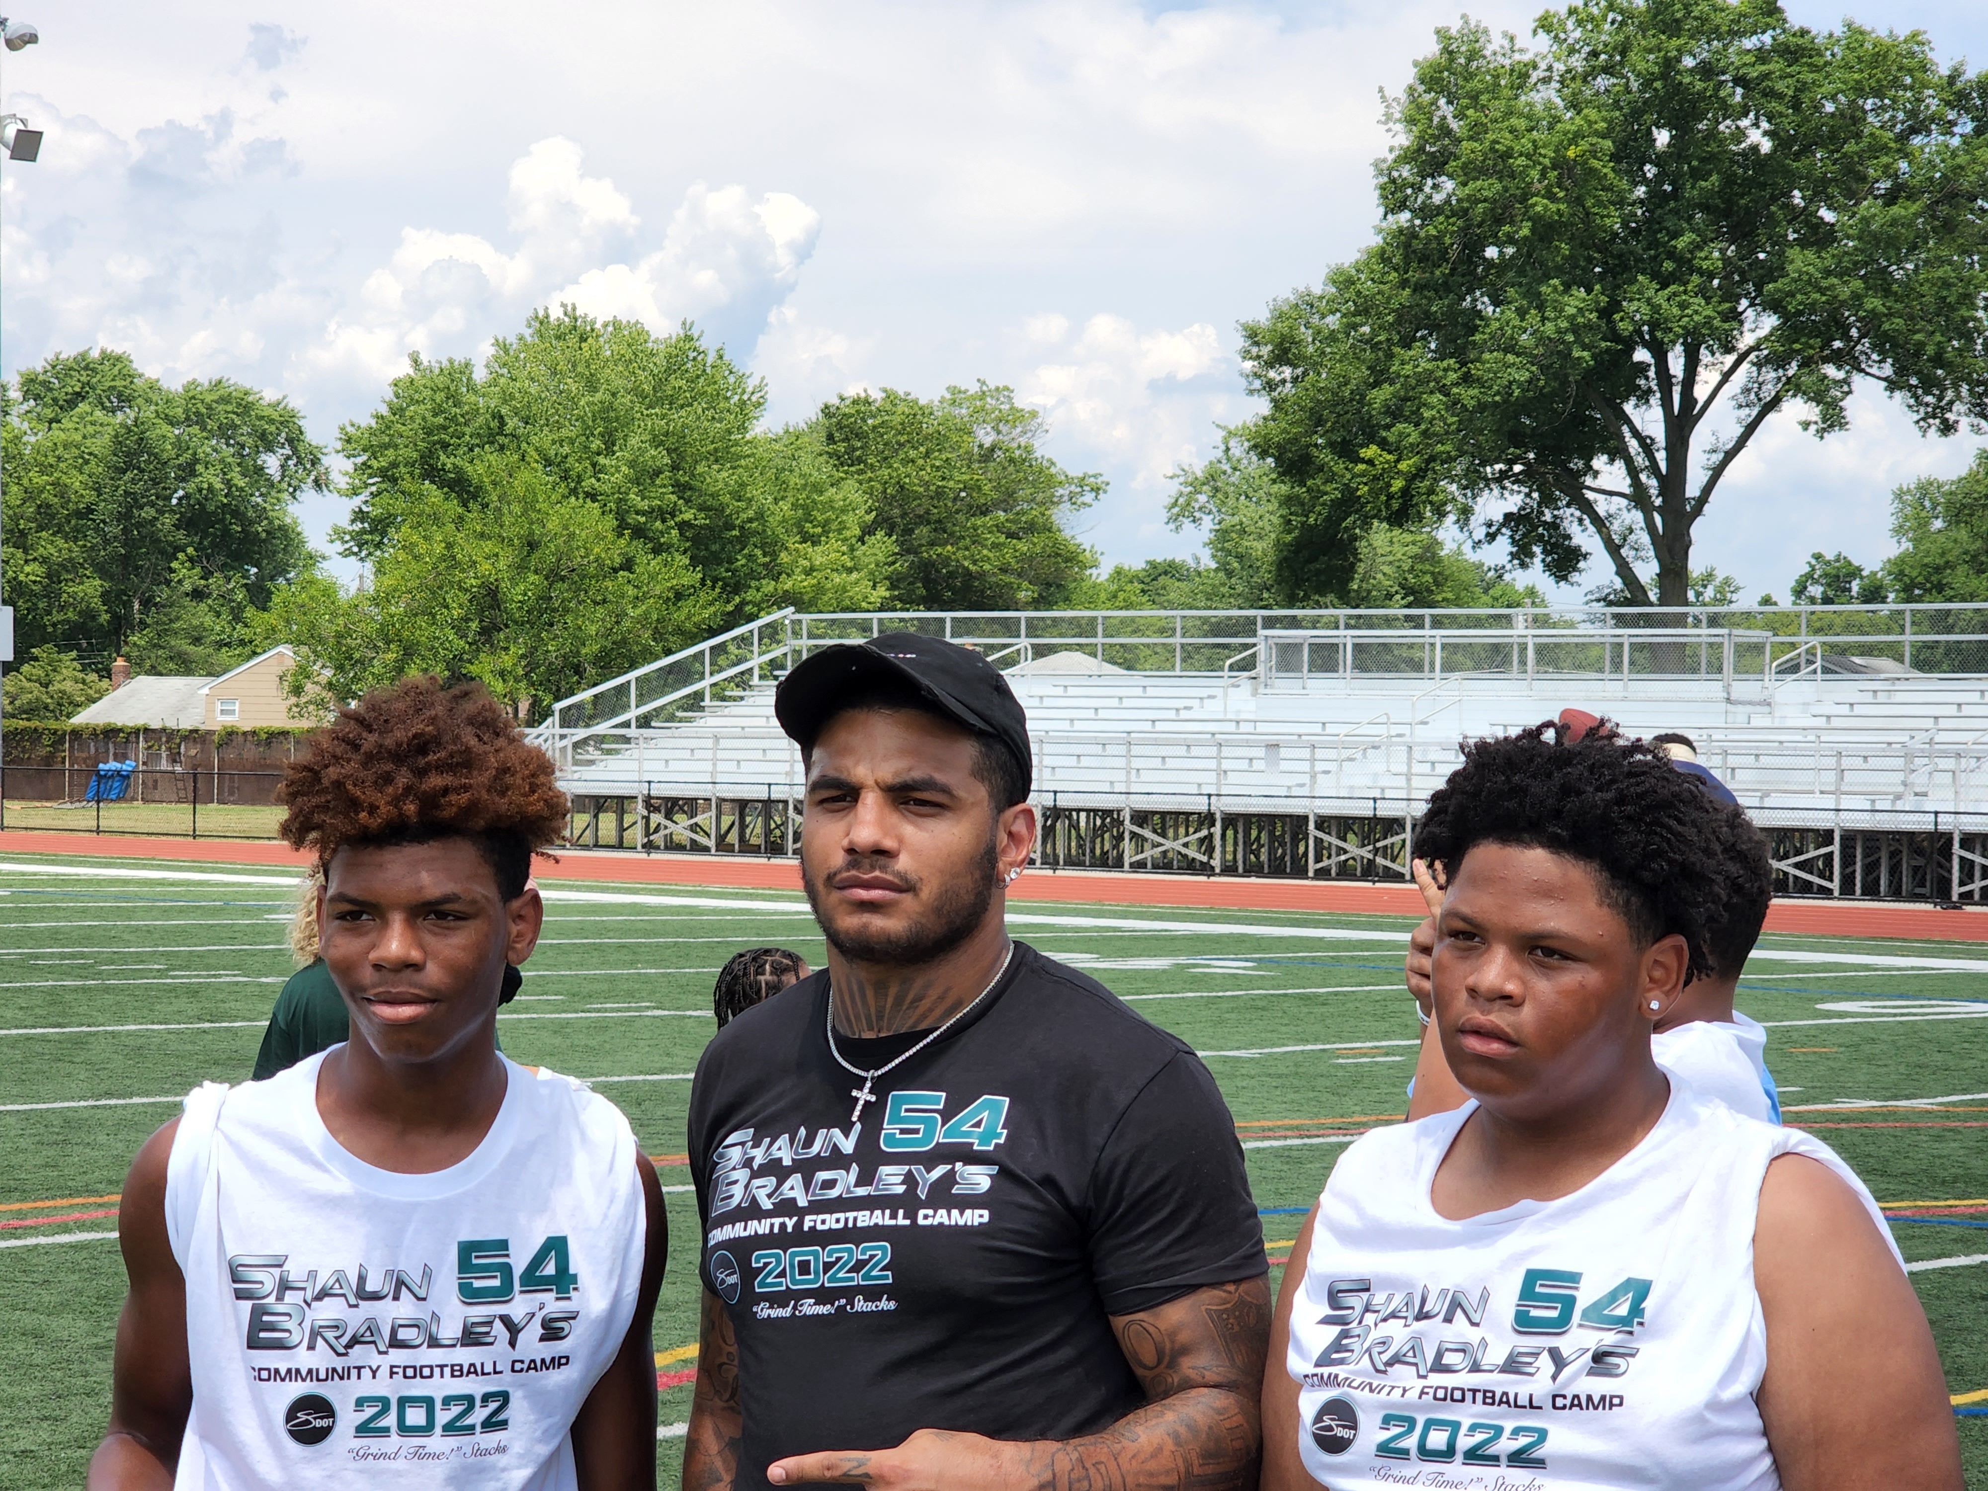
[[[628,1121],[497,1052],[567,825],[479,688],[368,694],[284,779],[352,1038],[139,1151],[95,1487],[650,1491],[666,1231]]]

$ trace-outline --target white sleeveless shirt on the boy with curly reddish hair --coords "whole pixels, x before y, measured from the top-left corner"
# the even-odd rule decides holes
[[[475,1151],[400,1175],[324,1127],[322,1060],[205,1083],[179,1119],[165,1225],[193,1413],[175,1491],[571,1491],[573,1417],[642,1278],[628,1121],[505,1060]]]

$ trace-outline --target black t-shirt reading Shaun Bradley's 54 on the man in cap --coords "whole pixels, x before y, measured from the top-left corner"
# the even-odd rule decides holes
[[[1093,1433],[1145,1402],[1107,1316],[1266,1270],[1199,1058],[1016,944],[970,1016],[863,1085],[827,976],[747,1010],[690,1095],[704,1288],[740,1344],[740,1487],[914,1429]],[[859,1068],[916,1036],[843,1042]]]

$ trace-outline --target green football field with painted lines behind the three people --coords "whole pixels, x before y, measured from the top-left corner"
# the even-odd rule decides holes
[[[294,881],[161,861],[0,861],[0,1485],[72,1487],[103,1429],[125,1167],[203,1079],[248,1076],[290,972]],[[1409,922],[1012,903],[1012,930],[1199,1050],[1235,1111],[1282,1260],[1340,1147],[1404,1109]],[[797,893],[547,883],[545,940],[499,1018],[519,1062],[586,1077],[658,1157],[678,1239],[656,1312],[660,1483],[696,1366],[690,1074],[738,948],[821,940]],[[1741,1008],[1787,1119],[1843,1153],[1893,1231],[1988,1487],[1988,948],[1767,936]]]

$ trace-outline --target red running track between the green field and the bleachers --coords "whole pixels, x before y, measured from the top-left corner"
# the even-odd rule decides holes
[[[304,855],[282,843],[243,839],[145,839],[93,833],[44,833],[8,829],[0,853],[105,855],[121,859],[177,859],[205,865],[304,865]],[[618,885],[722,885],[751,891],[799,891],[791,859],[724,855],[634,855],[606,849],[573,849],[557,863],[539,865],[541,879],[614,881]],[[1111,871],[1028,871],[1014,889],[1016,901],[1077,901],[1117,907],[1209,907],[1223,911],[1332,911],[1415,916],[1421,895],[1408,885],[1342,881],[1270,881],[1213,875],[1119,875]],[[1938,911],[1869,901],[1777,901],[1767,911],[1769,932],[1809,936],[1899,936],[1940,942],[1988,942],[1988,909]]]

